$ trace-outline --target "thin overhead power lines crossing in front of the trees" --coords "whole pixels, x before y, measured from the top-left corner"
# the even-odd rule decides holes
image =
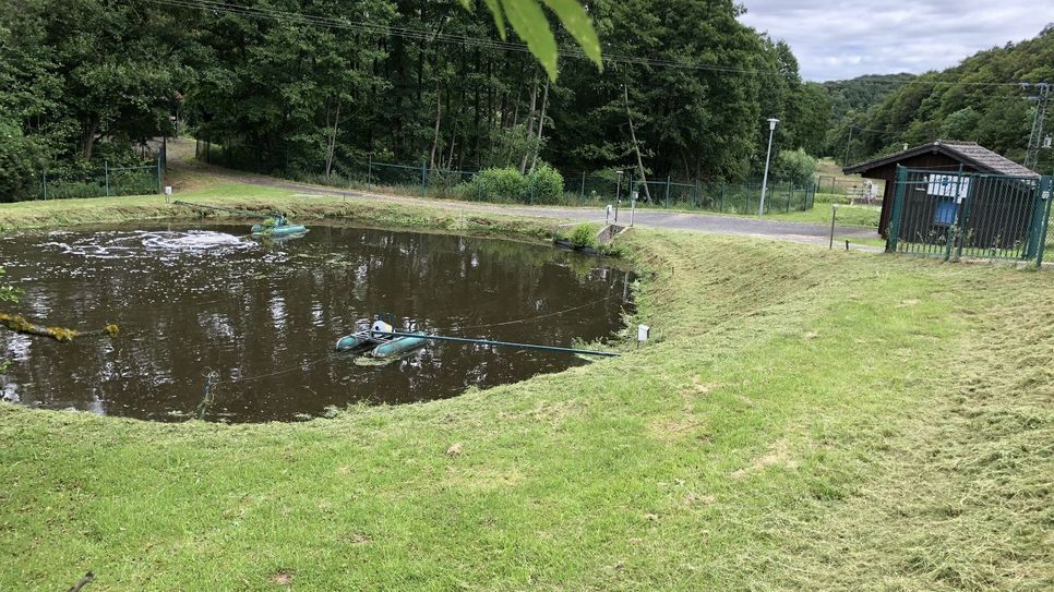
[[[241,16],[248,16],[252,19],[261,20],[272,20],[272,21],[295,21],[304,23],[311,26],[325,27],[325,28],[337,28],[344,31],[352,31],[356,33],[373,33],[380,35],[387,35],[393,37],[400,37],[404,39],[411,39],[424,43],[445,43],[464,45],[468,47],[479,47],[483,49],[495,49],[502,51],[515,51],[519,53],[529,53],[530,50],[524,44],[517,44],[513,41],[503,41],[500,39],[484,38],[484,37],[474,37],[469,35],[456,35],[450,33],[428,32],[418,28],[403,27],[395,25],[380,25],[372,23],[362,22],[351,22],[343,17],[335,16],[323,16],[323,15],[312,15],[302,14],[297,12],[286,12],[275,9],[262,8],[262,7],[242,7],[238,4],[228,4],[221,0],[145,0],[154,4],[161,4],[168,7],[194,9],[194,10],[212,10],[216,12],[223,12],[227,14],[237,14]],[[559,48],[558,55],[561,58],[574,59],[574,60],[589,60],[584,51],[577,48]],[[675,70],[690,70],[690,71],[705,71],[705,72],[722,72],[730,74],[746,74],[755,76],[779,76],[779,72],[775,70],[757,70],[750,68],[740,68],[734,65],[722,65],[714,63],[692,63],[686,61],[667,60],[658,58],[645,58],[639,56],[627,56],[620,53],[603,52],[602,61],[604,63],[619,63],[619,64],[632,64],[632,65],[645,65],[655,68],[671,68]],[[968,85],[968,86],[1016,86],[1017,82],[961,82],[961,81],[862,81],[864,83],[887,83],[887,84],[927,84],[927,85]]]

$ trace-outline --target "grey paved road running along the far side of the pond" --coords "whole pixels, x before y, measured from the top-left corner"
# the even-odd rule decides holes
[[[477,202],[451,202],[442,200],[426,200],[404,195],[388,195],[363,191],[344,191],[333,188],[307,185],[282,181],[271,177],[257,177],[237,173],[223,169],[212,169],[218,176],[244,183],[285,189],[308,195],[342,195],[349,198],[398,202],[411,205],[429,205],[459,210],[488,212],[496,214],[512,214],[517,216],[534,216],[553,220],[585,221],[603,220],[603,210],[599,208],[553,207],[553,206],[503,206],[482,204]],[[622,223],[628,222],[628,212],[623,209],[619,214]],[[748,217],[719,216],[714,214],[694,214],[682,212],[655,212],[638,209],[634,214],[634,225],[652,228],[690,230],[695,232],[711,232],[716,234],[747,234],[752,237],[767,237],[779,240],[804,242],[826,245],[830,237],[830,227],[807,222],[787,222],[764,220]],[[835,237],[848,239],[875,239],[878,234],[873,229],[854,226],[839,226],[835,229]],[[865,250],[876,250],[865,245],[854,245]]]

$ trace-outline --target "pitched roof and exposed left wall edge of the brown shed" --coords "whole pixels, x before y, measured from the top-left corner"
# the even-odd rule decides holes
[[[941,170],[949,173],[961,170],[962,172],[1039,179],[1039,174],[1035,172],[981,146],[977,142],[946,140],[938,140],[932,144],[923,144],[897,154],[843,168],[842,172],[846,174],[860,174],[867,179],[881,179],[886,182],[882,201],[882,217],[878,221],[878,233],[883,235],[889,228],[898,166],[910,169]]]

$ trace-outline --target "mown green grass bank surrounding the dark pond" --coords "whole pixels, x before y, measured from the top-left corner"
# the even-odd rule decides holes
[[[245,191],[224,203],[275,198]],[[143,200],[0,209],[15,227],[160,209]],[[640,229],[626,241],[654,340],[560,374],[299,424],[0,406],[0,590],[63,589],[89,569],[95,591],[1054,583],[1054,276]]]

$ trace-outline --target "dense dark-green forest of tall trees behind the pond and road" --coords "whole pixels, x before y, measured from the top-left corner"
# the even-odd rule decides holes
[[[17,4],[17,5],[15,5]],[[823,149],[825,89],[733,0],[595,0],[603,68],[565,29],[555,78],[487,4],[459,0],[24,0],[0,20],[0,194],[139,159],[190,134],[221,162],[340,174],[351,162],[476,170],[644,165],[759,177]],[[178,129],[177,129],[178,125]]]

